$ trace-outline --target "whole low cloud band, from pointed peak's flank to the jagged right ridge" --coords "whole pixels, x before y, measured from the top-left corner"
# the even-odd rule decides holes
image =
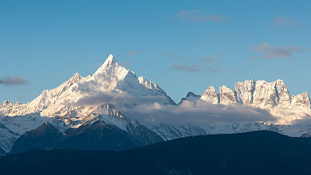
[[[184,100],[179,105],[165,105],[164,96],[135,97],[128,93],[98,92],[79,99],[74,105],[113,104],[126,117],[134,118],[145,125],[191,124],[206,126],[207,124],[227,122],[274,121],[276,118],[269,111],[243,105],[212,104],[202,100]],[[121,105],[131,103],[132,107]]]

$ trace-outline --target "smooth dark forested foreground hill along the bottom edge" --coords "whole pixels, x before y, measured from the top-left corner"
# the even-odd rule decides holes
[[[124,151],[31,149],[0,158],[10,174],[310,174],[311,139],[276,132],[202,135]]]

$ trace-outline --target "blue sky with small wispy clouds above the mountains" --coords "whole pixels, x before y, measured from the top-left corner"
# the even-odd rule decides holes
[[[27,102],[112,53],[179,102],[188,91],[284,80],[311,92],[308,0],[0,1],[0,101]]]

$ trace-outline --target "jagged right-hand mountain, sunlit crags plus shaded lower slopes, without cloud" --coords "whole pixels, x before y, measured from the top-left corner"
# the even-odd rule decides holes
[[[218,88],[208,86],[203,94],[188,92],[178,105],[185,100],[196,102],[203,100],[212,104],[245,105],[268,110],[276,121],[273,122],[231,122],[218,123],[201,127],[206,134],[237,133],[255,130],[271,130],[289,136],[311,135],[311,125],[291,123],[296,119],[307,119],[311,115],[310,98],[307,92],[290,95],[283,80],[266,82],[264,80],[244,80],[235,82],[234,90],[225,85]],[[182,135],[200,135],[202,131],[193,125],[157,125],[155,131],[164,140],[174,139]]]

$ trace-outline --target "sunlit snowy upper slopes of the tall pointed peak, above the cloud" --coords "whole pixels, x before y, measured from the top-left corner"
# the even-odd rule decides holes
[[[41,116],[64,115],[60,112],[65,106],[76,102],[82,97],[98,92],[126,92],[139,96],[165,96],[167,103],[173,101],[166,95],[155,82],[148,81],[145,77],[136,77],[130,69],[120,66],[114,56],[110,54],[104,63],[91,76],[82,77],[74,73],[64,83],[56,88],[43,90],[34,100],[20,104],[4,101],[0,105],[0,111],[8,116],[25,115],[39,112]]]

